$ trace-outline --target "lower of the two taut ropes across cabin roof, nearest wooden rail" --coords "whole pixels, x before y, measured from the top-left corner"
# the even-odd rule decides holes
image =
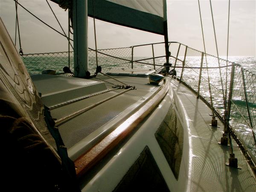
[[[110,99],[113,99],[113,98],[115,98],[116,96],[122,95],[123,93],[126,93],[127,91],[129,91],[129,90],[131,90],[131,89],[132,89],[132,87],[130,87],[130,88],[126,89],[126,90],[123,90],[122,92],[117,93],[116,95],[113,95],[113,96],[110,96],[110,97],[108,97],[108,98],[106,98],[106,99],[103,99],[103,100],[100,101],[100,102],[96,102],[96,103],[94,103],[93,105],[90,105],[90,106],[88,106],[88,107],[86,107],[86,108],[83,108],[83,109],[81,109],[81,110],[79,110],[79,111],[76,111],[76,112],[74,112],[74,113],[72,113],[72,114],[70,114],[70,115],[68,115],[68,116],[64,116],[64,117],[62,117],[61,119],[56,120],[56,121],[55,121],[55,125],[59,125],[60,123],[67,121],[67,119],[70,119],[70,118],[72,118],[72,117],[78,116],[79,114],[84,113],[84,112],[86,112],[86,111],[89,111],[90,109],[95,108],[96,106],[98,106],[98,105],[100,105],[100,104],[102,104],[102,103],[104,103],[104,102],[106,102],[106,101],[108,101],[108,100],[110,100]]]

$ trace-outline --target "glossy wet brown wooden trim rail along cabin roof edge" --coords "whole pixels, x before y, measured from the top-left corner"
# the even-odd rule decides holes
[[[103,140],[94,145],[85,154],[75,160],[76,175],[81,177],[96,165],[109,151],[118,145],[143,119],[159,104],[169,90],[169,80],[164,80],[163,87],[145,103],[138,111],[126,119]]]

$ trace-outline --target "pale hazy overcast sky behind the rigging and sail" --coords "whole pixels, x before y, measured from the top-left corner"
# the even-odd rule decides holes
[[[29,11],[61,32],[46,0],[19,0]],[[55,15],[67,33],[67,12],[49,1]],[[217,55],[209,0],[200,0],[206,52]],[[212,0],[219,55],[227,55],[228,0]],[[15,2],[0,0],[0,17],[15,41]],[[67,39],[32,17],[20,6],[18,18],[21,46],[24,53],[61,52],[68,50]],[[169,41],[178,41],[204,51],[198,0],[167,0]],[[95,48],[93,19],[88,18],[88,47]],[[162,35],[143,32],[124,26],[96,20],[97,48],[130,47],[133,45],[163,42]],[[71,37],[73,38],[73,37]],[[17,41],[17,49],[19,49]],[[151,56],[138,49],[135,56]],[[163,46],[155,48],[155,55],[163,55]],[[230,0],[230,56],[256,56],[256,0]]]

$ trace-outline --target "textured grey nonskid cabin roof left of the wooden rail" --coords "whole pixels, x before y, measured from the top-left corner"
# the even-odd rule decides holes
[[[77,86],[73,85],[73,82],[71,82],[70,84],[72,85],[68,87],[69,89],[67,92],[64,93],[64,95],[65,96],[70,95],[66,97],[70,99],[74,99],[72,91],[77,92],[77,90],[79,89],[80,95],[77,94],[78,96],[81,96],[81,94],[83,93],[84,95],[90,96],[91,94],[94,94],[90,91],[91,89],[93,89],[92,87],[94,86],[98,86],[98,90],[96,89],[94,90],[94,92],[99,93],[101,91],[104,91],[101,85],[102,83],[104,83],[106,86],[105,90],[113,89],[114,84],[122,84],[106,76],[97,76],[97,78],[103,79],[105,81],[101,81],[99,79],[90,79],[90,81],[93,82],[91,83],[92,86],[90,86],[90,83],[85,82],[84,83],[85,87],[81,87],[83,83],[80,81],[79,81],[79,85]],[[151,95],[153,95],[154,91],[156,91],[160,87],[160,86],[148,84],[147,78],[139,78],[139,77],[131,78],[128,76],[126,77],[115,76],[115,78],[118,79],[119,81],[124,82],[125,84],[135,86],[136,89],[129,90],[128,92],[122,95],[116,96],[113,99],[103,102],[102,104],[90,109],[89,111],[81,113],[80,115],[75,116],[74,118],[70,118],[67,121],[64,121],[63,123],[58,125],[64,144],[69,149],[70,156],[74,155],[74,157],[71,157],[73,160],[80,155],[80,153],[77,154],[77,151],[80,151],[80,150],[86,151],[87,149],[92,147],[95,143],[101,140],[106,134],[112,131],[116,127],[116,125],[118,125],[119,121],[122,120],[122,118],[129,116],[129,114],[133,110],[136,110],[136,108],[138,108],[139,105],[143,103],[143,101],[145,101]],[[74,78],[71,78],[71,79],[74,79]],[[42,82],[43,80],[44,79],[41,79],[41,82],[40,82],[41,84],[44,84]],[[95,81],[99,83],[96,84]],[[113,84],[108,83],[106,81],[111,82]],[[38,84],[38,83],[35,83],[35,84]],[[47,84],[51,84],[49,83],[49,79],[47,79]],[[72,90],[72,86],[73,86],[73,90]],[[58,101],[58,98],[55,96],[55,93],[60,94],[59,92],[61,91],[59,90],[59,87],[56,87],[56,90],[57,91],[52,90],[52,93],[47,92],[47,94],[43,94],[44,89],[41,90],[38,86],[38,92],[43,92],[42,98],[45,98],[44,102],[48,104],[47,105],[48,107],[51,106],[50,104],[54,104],[54,105],[57,104],[56,102],[53,102],[51,100],[51,98],[54,98],[55,101]],[[99,94],[97,96],[92,96],[86,99],[82,99],[80,101],[71,103],[69,105],[64,105],[62,107],[52,109],[51,115],[55,119],[60,119],[64,116],[68,116],[90,105],[94,105],[95,103],[100,102],[103,99],[107,99],[111,96],[114,96],[117,93],[120,93],[124,90],[125,89],[117,89],[114,91],[110,91],[108,93]],[[48,97],[46,97],[45,95]],[[63,102],[61,99],[62,98],[60,98],[60,102]]]

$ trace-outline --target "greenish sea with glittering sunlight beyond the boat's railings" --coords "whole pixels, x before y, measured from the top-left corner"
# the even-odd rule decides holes
[[[130,60],[131,58],[124,57],[125,59]],[[224,57],[222,57],[224,58]],[[134,61],[136,60],[141,60],[142,57],[135,57]],[[181,60],[183,60],[182,57],[180,57]],[[240,64],[244,69],[250,71],[251,73],[256,74],[256,57],[255,56],[230,56],[229,58],[230,62],[235,62],[236,64]],[[69,58],[67,56],[67,53],[54,53],[54,54],[40,54],[40,55],[28,55],[23,57],[23,61],[26,65],[26,68],[29,72],[29,74],[41,74],[43,70],[56,70],[56,73],[63,73],[63,67],[69,66],[70,65],[70,70],[74,71],[73,69],[73,55]],[[90,56],[88,58],[89,61],[89,71],[91,74],[94,74],[95,69],[96,69],[96,57]],[[157,58],[155,61],[152,59],[149,60],[144,60],[142,61],[144,64],[136,63],[134,62],[134,68],[151,68],[153,69],[153,66],[150,64],[155,64],[158,65],[163,65],[166,60],[165,58]],[[172,63],[172,67],[174,66],[175,59],[170,58],[170,62]],[[186,57],[186,64],[188,64],[189,67],[200,67],[201,63],[201,56],[187,56]],[[218,60],[214,57],[209,56],[207,58],[207,63],[208,67],[218,67]],[[98,64],[102,67],[103,72],[108,72],[111,70],[116,70],[116,69],[124,69],[124,68],[131,68],[131,63],[125,60],[121,59],[116,59],[116,58],[111,58],[111,57],[99,57],[98,58]],[[229,63],[231,64],[231,63]],[[221,61],[221,66],[225,66],[226,62]],[[177,62],[176,66],[182,66],[181,62]],[[186,67],[188,67],[186,66]],[[203,67],[206,67],[206,62],[203,62]],[[156,70],[161,70],[163,67],[156,66]],[[181,68],[176,68],[177,71],[177,77],[180,77],[181,75]],[[224,113],[224,104],[222,100],[222,95],[221,91],[222,88],[226,88],[226,86],[229,86],[229,81],[230,81],[230,73],[231,73],[231,67],[228,67],[227,70],[226,68],[222,68],[220,71],[218,69],[209,69],[208,72],[206,69],[202,70],[202,82],[201,82],[201,95],[204,96],[205,98],[208,98],[209,100],[209,88],[208,88],[208,73],[210,76],[210,83],[212,86],[212,97],[213,97],[213,106],[217,109],[219,109],[220,113]],[[221,81],[220,81],[220,74],[223,76],[222,81],[223,85],[221,86]],[[238,72],[239,73],[239,72]],[[248,76],[249,74],[249,76]],[[253,117],[256,119],[256,75],[251,76],[250,73],[247,72],[245,74],[245,80],[246,83],[248,84],[247,86],[247,96],[248,96],[248,102],[249,104],[252,103],[253,108]],[[190,87],[193,89],[197,90],[198,89],[198,76],[199,76],[199,69],[184,69],[183,73],[183,79],[186,79],[186,83],[189,84]],[[227,78],[226,78],[227,76]],[[238,80],[241,80],[241,76],[237,77]],[[227,84],[225,84],[227,82]],[[236,85],[236,86],[239,86]],[[241,87],[241,85],[240,85]],[[238,88],[241,89],[241,88]],[[241,94],[243,94],[242,90],[239,90],[238,93],[236,93],[236,102],[238,103],[241,101],[241,103],[244,103],[244,99],[242,99]],[[245,106],[245,104],[244,104]],[[243,110],[244,111],[244,110]],[[256,121],[256,120],[255,120]]]

